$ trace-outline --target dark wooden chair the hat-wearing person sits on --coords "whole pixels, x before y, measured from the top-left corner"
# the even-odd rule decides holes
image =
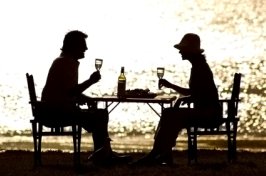
[[[228,148],[228,161],[236,160],[236,136],[239,93],[240,93],[241,74],[234,74],[233,89],[230,99],[220,99],[223,108],[223,117],[218,126],[201,127],[193,125],[187,128],[188,135],[188,162],[197,162],[197,137],[200,135],[226,135]]]

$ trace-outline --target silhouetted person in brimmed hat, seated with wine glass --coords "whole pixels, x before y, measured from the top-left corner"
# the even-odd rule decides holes
[[[172,148],[176,145],[178,133],[192,123],[214,125],[220,123],[222,113],[218,102],[218,91],[213,80],[213,73],[206,62],[204,50],[200,48],[200,37],[188,33],[180,43],[174,45],[191,65],[189,88],[160,79],[159,85],[175,90],[181,94],[173,108],[165,108],[162,112],[155,134],[153,149],[145,157],[134,164],[173,164]],[[180,104],[194,103],[194,108],[180,107]]]

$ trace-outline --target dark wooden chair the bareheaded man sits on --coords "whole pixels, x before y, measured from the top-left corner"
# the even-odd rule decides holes
[[[34,142],[34,164],[35,166],[41,165],[41,148],[42,148],[42,137],[43,136],[72,136],[74,145],[73,160],[74,165],[80,164],[80,142],[81,142],[81,126],[78,122],[71,125],[71,130],[66,130],[65,127],[69,126],[62,122],[62,124],[56,123],[56,125],[47,125],[45,117],[42,114],[42,108],[45,103],[37,100],[34,79],[32,75],[26,74],[28,90],[30,96],[30,104],[32,108],[32,115],[34,119],[30,120],[32,124],[32,135]],[[43,130],[43,127],[49,130]]]

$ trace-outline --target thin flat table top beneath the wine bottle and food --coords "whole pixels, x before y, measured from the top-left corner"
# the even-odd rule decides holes
[[[139,103],[172,103],[176,100],[176,96],[173,95],[158,95],[155,98],[118,98],[115,95],[105,95],[102,97],[91,97],[95,101],[105,102],[139,102]]]

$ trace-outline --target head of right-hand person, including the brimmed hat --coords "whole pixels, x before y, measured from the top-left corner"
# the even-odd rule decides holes
[[[187,33],[181,41],[174,45],[182,56],[183,60],[190,60],[196,55],[201,55],[204,50],[200,48],[200,37],[197,34]]]

